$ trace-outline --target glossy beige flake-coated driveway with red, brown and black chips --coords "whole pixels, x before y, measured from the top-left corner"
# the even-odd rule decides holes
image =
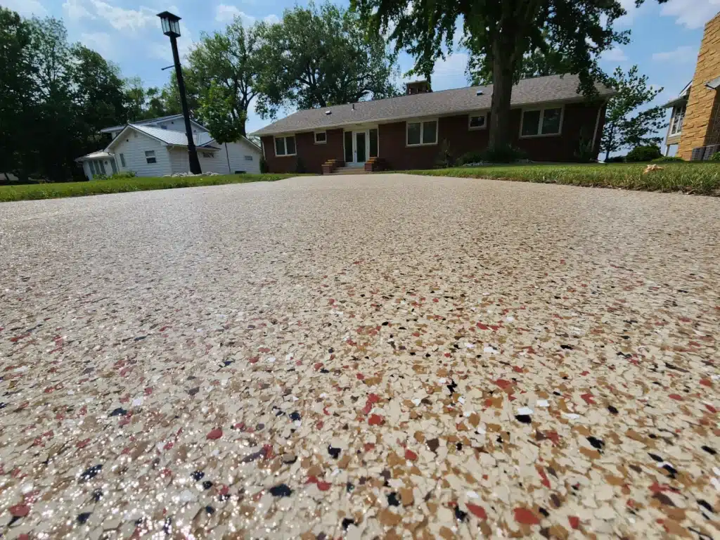
[[[405,175],[2,204],[0,534],[718,538],[719,231]]]

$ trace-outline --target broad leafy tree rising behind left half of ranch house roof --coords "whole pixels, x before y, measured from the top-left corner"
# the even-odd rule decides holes
[[[397,95],[397,55],[359,14],[333,4],[287,9],[278,24],[261,23],[262,94],[258,113],[310,109]]]

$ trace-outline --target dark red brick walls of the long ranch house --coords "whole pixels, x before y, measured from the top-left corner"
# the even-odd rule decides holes
[[[546,105],[543,107],[557,107]],[[528,107],[536,109],[540,107]],[[598,122],[598,110],[600,121]],[[593,154],[596,157],[600,149],[600,133],[605,119],[605,104],[570,103],[564,105],[560,135],[521,138],[520,122],[522,109],[510,111],[510,143],[524,150],[533,161],[574,161],[580,150],[580,140],[593,139],[595,122],[598,122],[598,134],[595,137]],[[421,119],[432,120],[432,118]],[[490,123],[488,113],[487,124]],[[298,171],[298,158],[305,171],[322,173],[322,165],[328,159],[343,160],[343,129],[328,130],[328,143],[316,145],[312,132],[295,135],[297,156],[275,156],[275,142],[272,136],[262,138],[265,159],[271,172],[293,173]],[[432,168],[438,158],[443,141],[447,141],[454,158],[464,153],[484,150],[490,138],[489,128],[468,129],[468,114],[438,118],[438,143],[435,145],[407,146],[405,144],[405,120],[380,124],[378,131],[378,153],[390,168],[402,171],[413,168]]]

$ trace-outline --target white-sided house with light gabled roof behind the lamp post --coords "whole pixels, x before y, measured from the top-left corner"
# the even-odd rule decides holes
[[[207,129],[195,122],[192,132],[202,172],[259,173],[262,150],[245,137],[218,144]],[[187,136],[182,114],[143,120],[100,130],[112,135],[107,148],[77,158],[85,176],[133,171],[137,176],[165,176],[190,171]]]

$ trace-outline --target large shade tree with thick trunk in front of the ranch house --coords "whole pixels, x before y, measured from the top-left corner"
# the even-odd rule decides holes
[[[415,57],[413,71],[428,78],[436,60],[452,51],[462,17],[464,34],[492,67],[489,145],[495,149],[510,143],[510,97],[526,53],[559,51],[580,90],[593,96],[603,79],[598,55],[628,41],[628,32],[613,30],[626,13],[617,0],[351,0],[351,6],[370,32],[389,30],[396,50]]]

